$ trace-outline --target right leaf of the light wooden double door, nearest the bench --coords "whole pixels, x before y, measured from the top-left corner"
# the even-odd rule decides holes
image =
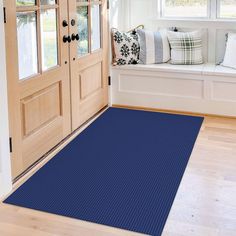
[[[69,12],[76,20],[70,34],[80,36],[70,45],[75,130],[108,103],[107,1],[69,1]]]

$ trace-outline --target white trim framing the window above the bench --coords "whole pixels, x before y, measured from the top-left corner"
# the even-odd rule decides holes
[[[236,18],[220,17],[220,0],[208,0],[207,3],[207,16],[206,17],[175,17],[164,16],[164,2],[165,0],[158,1],[158,18],[163,20],[196,20],[196,21],[236,21]]]

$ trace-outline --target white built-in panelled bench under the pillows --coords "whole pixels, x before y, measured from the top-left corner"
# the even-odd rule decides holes
[[[111,103],[236,117],[236,70],[202,64],[112,67]]]

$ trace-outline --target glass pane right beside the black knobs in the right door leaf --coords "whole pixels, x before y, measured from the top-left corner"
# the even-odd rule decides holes
[[[88,7],[77,7],[78,32],[78,56],[83,56],[89,52],[89,33],[88,33]]]

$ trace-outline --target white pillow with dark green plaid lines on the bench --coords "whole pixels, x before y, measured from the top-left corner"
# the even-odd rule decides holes
[[[201,32],[168,31],[171,64],[198,65],[203,63]]]

